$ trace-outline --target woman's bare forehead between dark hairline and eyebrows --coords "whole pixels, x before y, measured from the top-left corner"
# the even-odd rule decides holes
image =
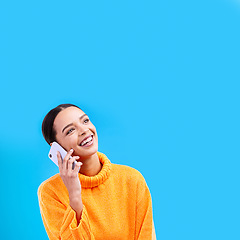
[[[53,125],[56,129],[62,128],[70,123],[78,121],[83,114],[85,113],[79,108],[66,108],[56,116]]]

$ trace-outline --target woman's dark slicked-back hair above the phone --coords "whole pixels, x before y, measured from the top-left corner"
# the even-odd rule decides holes
[[[56,116],[64,109],[69,107],[76,107],[81,109],[80,107],[73,104],[60,104],[57,107],[53,108],[48,114],[45,116],[42,122],[42,134],[48,144],[56,141],[56,131],[53,127],[54,120]],[[81,109],[82,110],[82,109]]]

